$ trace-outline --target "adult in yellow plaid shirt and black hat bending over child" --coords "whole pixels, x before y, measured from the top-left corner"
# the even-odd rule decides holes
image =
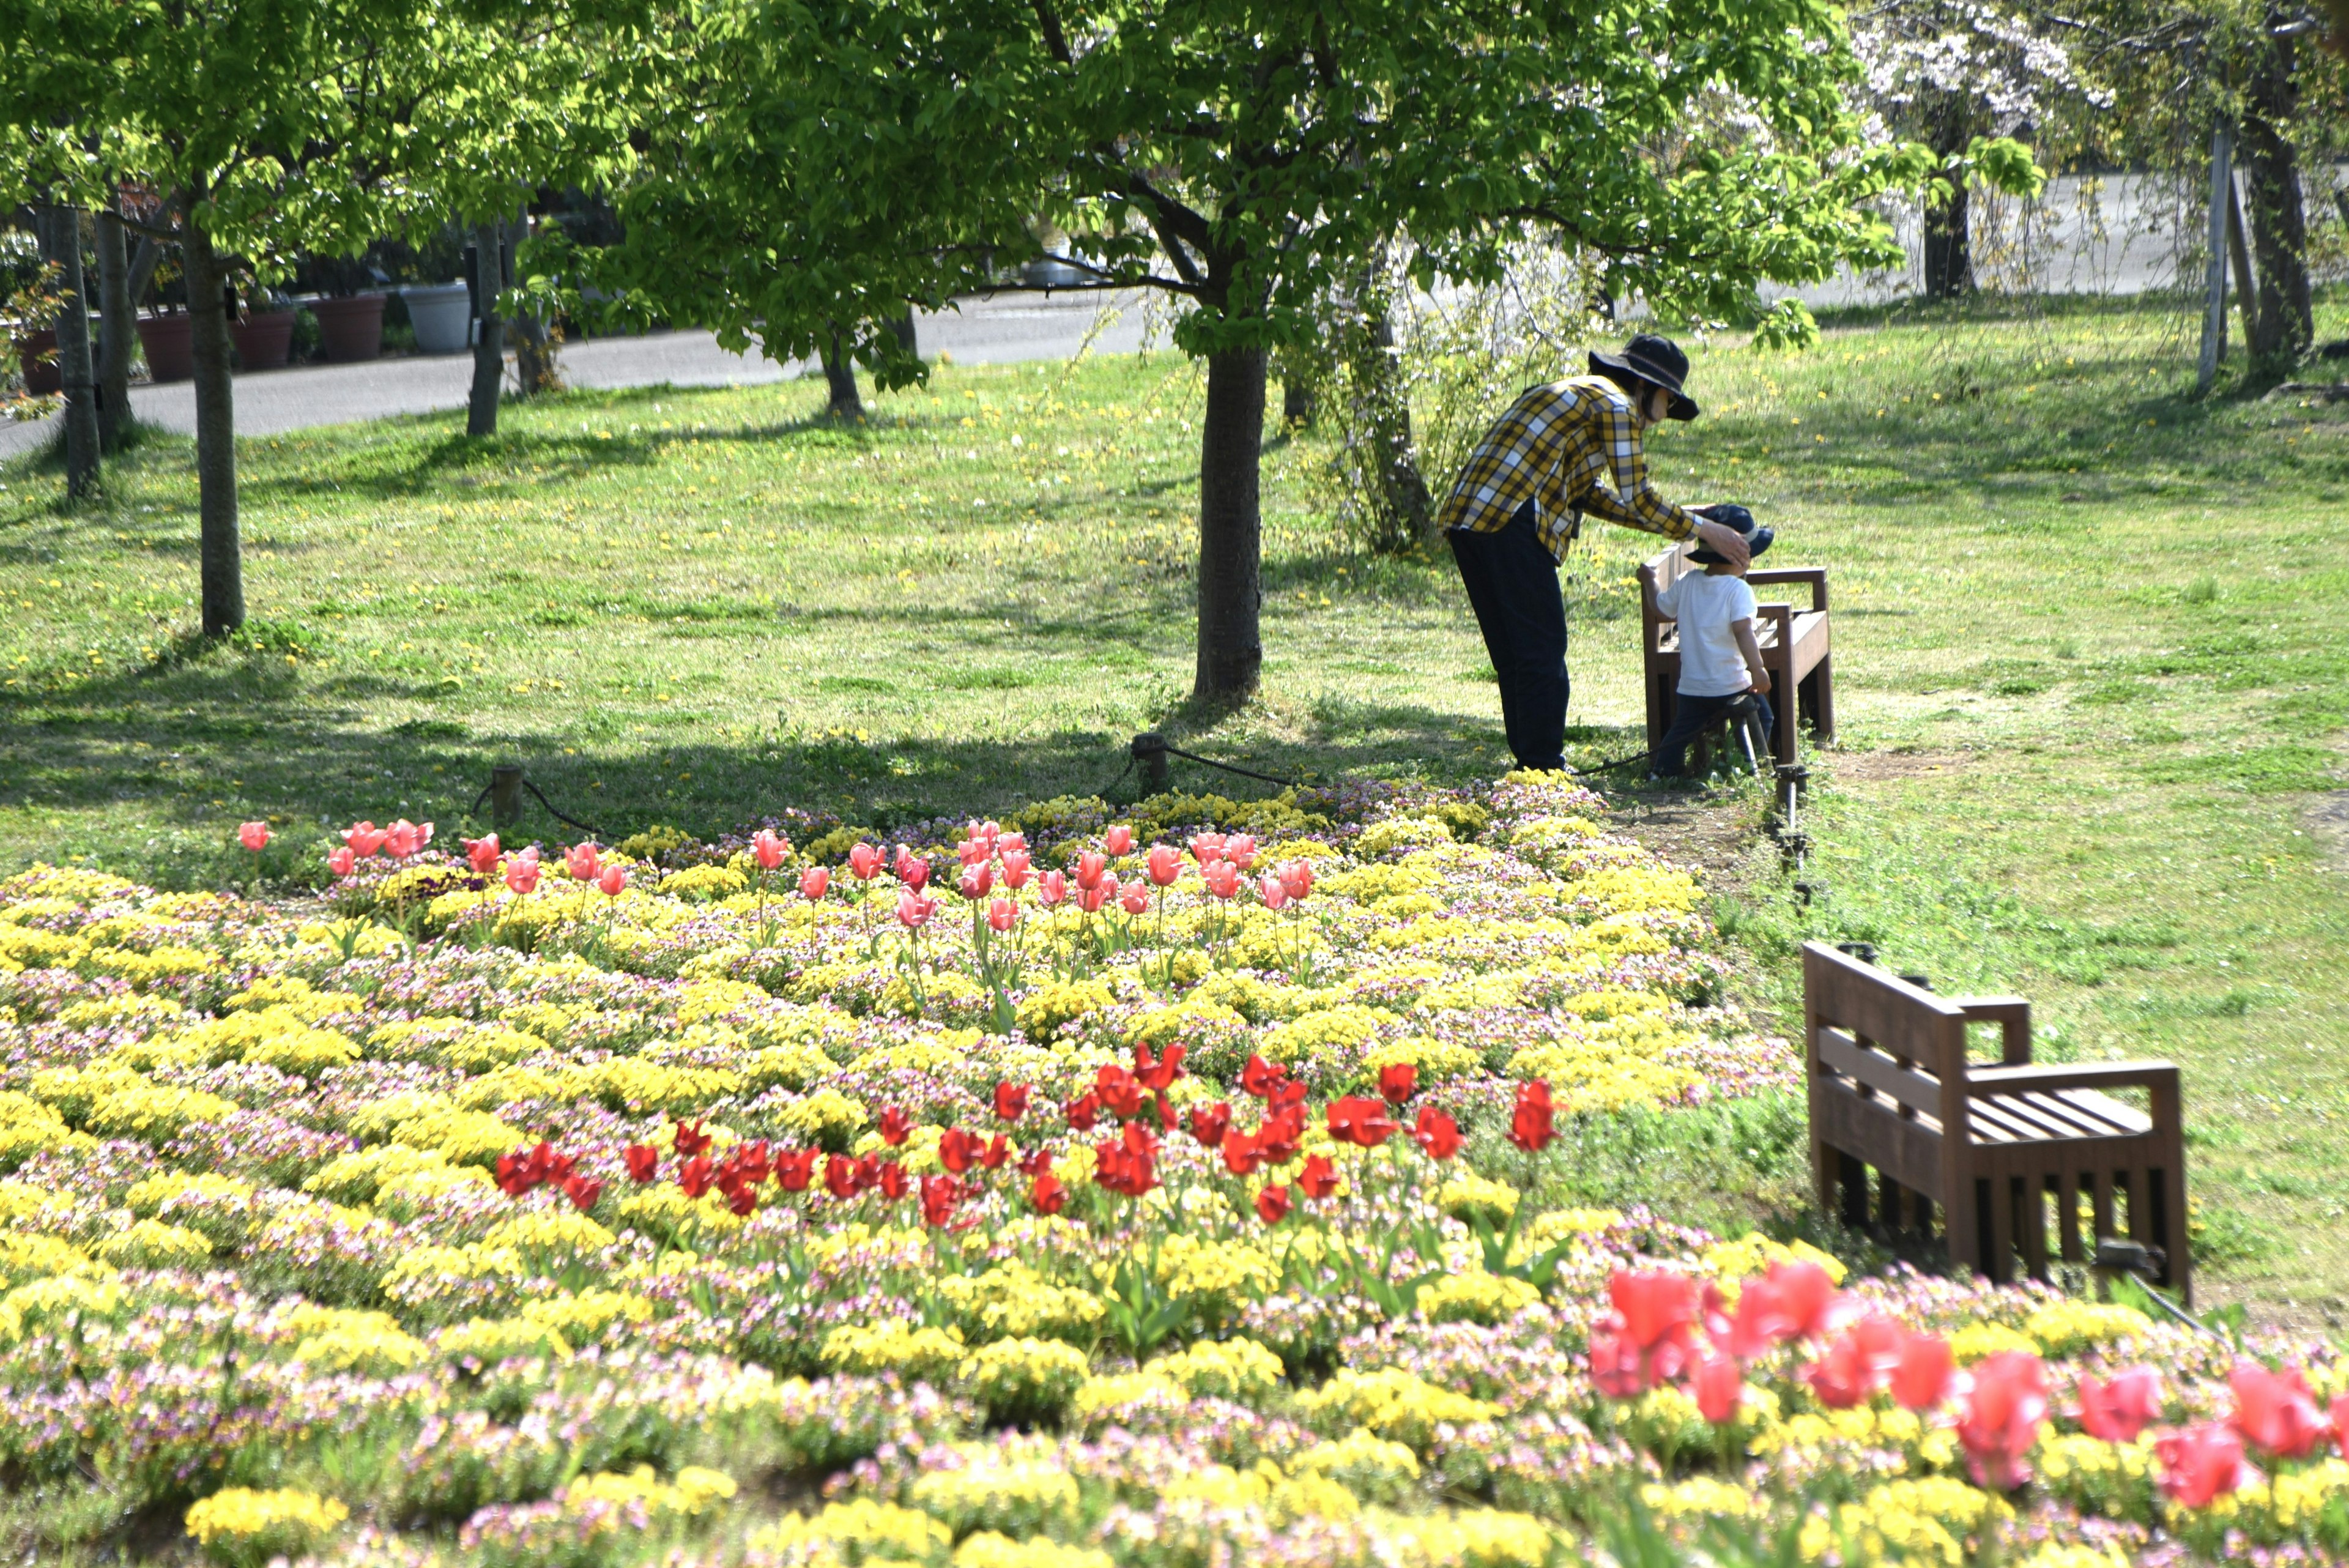
[[[1745,538],[1647,482],[1642,437],[1696,418],[1689,355],[1642,331],[1590,374],[1529,388],[1485,433],[1438,512],[1468,604],[1501,677],[1501,724],[1517,766],[1560,769],[1567,745],[1567,602],[1557,564],[1583,512],[1665,538],[1703,538],[1745,564]]]

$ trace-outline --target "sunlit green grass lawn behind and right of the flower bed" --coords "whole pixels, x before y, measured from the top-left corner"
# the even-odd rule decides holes
[[[2178,1058],[2210,1295],[2330,1319],[2349,411],[2194,402],[2182,331],[1983,306],[1846,317],[1802,357],[1698,348],[1708,416],[1654,442],[1661,482],[1755,505],[1771,564],[1832,567],[1844,726],[1825,893],[1757,865],[1719,914],[1778,1001],[1799,936],[1867,938],[1943,990],[2030,994],[2055,1051]],[[482,444],[458,416],[251,440],[256,621],[211,651],[188,444],[82,515],[0,470],[0,865],[209,879],[249,816],[449,832],[505,757],[606,837],[785,804],[890,827],[1095,792],[1132,731],[1182,726],[1189,364],[944,367],[864,430],[820,407],[817,383],[580,393]],[[1264,701],[1196,750],[1489,776],[1449,564],[1332,538],[1318,463],[1311,437],[1268,451]],[[1595,527],[1574,559],[1583,759],[1637,745],[1647,543]]]

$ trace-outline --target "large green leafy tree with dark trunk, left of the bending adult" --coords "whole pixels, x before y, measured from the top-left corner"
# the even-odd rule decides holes
[[[921,376],[883,329],[1066,235],[1207,367],[1196,696],[1257,684],[1266,353],[1381,244],[1487,282],[1525,221],[1618,294],[1727,313],[1898,252],[1816,0],[702,0],[601,282],[768,355]],[[1722,129],[1722,127],[1741,129]]]

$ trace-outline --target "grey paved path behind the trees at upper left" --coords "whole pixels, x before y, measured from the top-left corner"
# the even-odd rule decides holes
[[[1142,346],[1146,301],[1139,294],[996,294],[968,299],[961,310],[921,315],[914,339],[923,355],[961,364],[1064,360],[1088,336],[1095,353]],[[815,374],[815,364],[778,364],[756,353],[731,355],[707,331],[655,331],[641,339],[566,343],[564,378],[580,388],[622,386],[756,386]],[[272,435],[305,425],[341,425],[383,414],[463,409],[472,386],[472,355],[406,355],[371,364],[298,364],[237,376],[237,435]],[[195,386],[134,386],[139,418],[195,433]],[[54,416],[0,423],[0,458],[49,437]]]

